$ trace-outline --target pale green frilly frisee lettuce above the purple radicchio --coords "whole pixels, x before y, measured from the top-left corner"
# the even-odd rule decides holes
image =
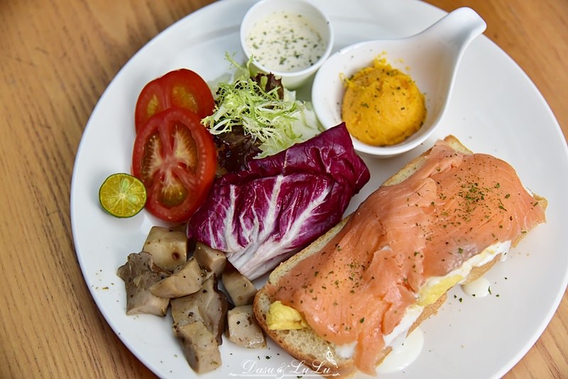
[[[213,135],[230,133],[242,126],[244,133],[258,142],[261,149],[255,158],[273,155],[322,131],[311,104],[295,99],[295,92],[284,88],[265,91],[253,77],[249,62],[243,67],[231,56],[226,59],[237,70],[233,82],[220,82],[216,91],[214,113],[202,120]]]

